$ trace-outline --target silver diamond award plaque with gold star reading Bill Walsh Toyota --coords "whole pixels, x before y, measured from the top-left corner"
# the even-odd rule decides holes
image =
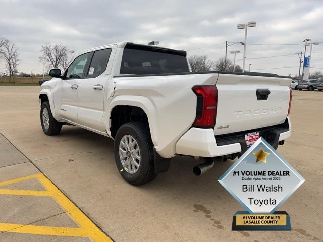
[[[249,216],[275,214],[275,210],[304,181],[262,137],[219,178],[219,182],[245,207]],[[243,217],[248,218],[242,214],[241,219]]]

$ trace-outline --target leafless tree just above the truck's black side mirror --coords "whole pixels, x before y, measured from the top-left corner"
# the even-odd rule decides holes
[[[59,68],[62,66],[63,58],[67,52],[68,48],[65,45],[55,44],[52,46],[50,43],[46,43],[41,45],[39,58],[48,64],[48,68]]]

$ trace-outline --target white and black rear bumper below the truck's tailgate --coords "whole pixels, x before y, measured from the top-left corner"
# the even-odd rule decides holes
[[[280,125],[249,130],[234,134],[214,136],[212,129],[191,128],[176,144],[176,153],[182,155],[217,157],[237,153],[242,155],[248,148],[244,139],[245,133],[259,132],[275,149],[279,141],[291,135],[291,122],[287,117]]]

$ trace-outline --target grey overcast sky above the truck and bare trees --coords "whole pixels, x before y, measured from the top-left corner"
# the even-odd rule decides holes
[[[298,74],[295,53],[304,52],[303,40],[310,38],[321,42],[313,46],[311,67],[317,68],[311,72],[323,71],[322,0],[0,0],[0,10],[0,36],[17,44],[19,72],[42,72],[39,49],[46,42],[62,43],[76,54],[114,42],[159,40],[160,46],[216,60],[225,55],[225,41],[244,41],[237,24],[248,21],[257,26],[248,29],[247,43],[301,45],[247,45],[246,69],[250,63],[255,71]],[[236,63],[242,66],[242,46],[228,47],[233,60],[230,50],[241,50]],[[286,56],[262,58],[277,55]],[[0,60],[1,72],[4,66]],[[291,68],[265,70],[281,67]]]

